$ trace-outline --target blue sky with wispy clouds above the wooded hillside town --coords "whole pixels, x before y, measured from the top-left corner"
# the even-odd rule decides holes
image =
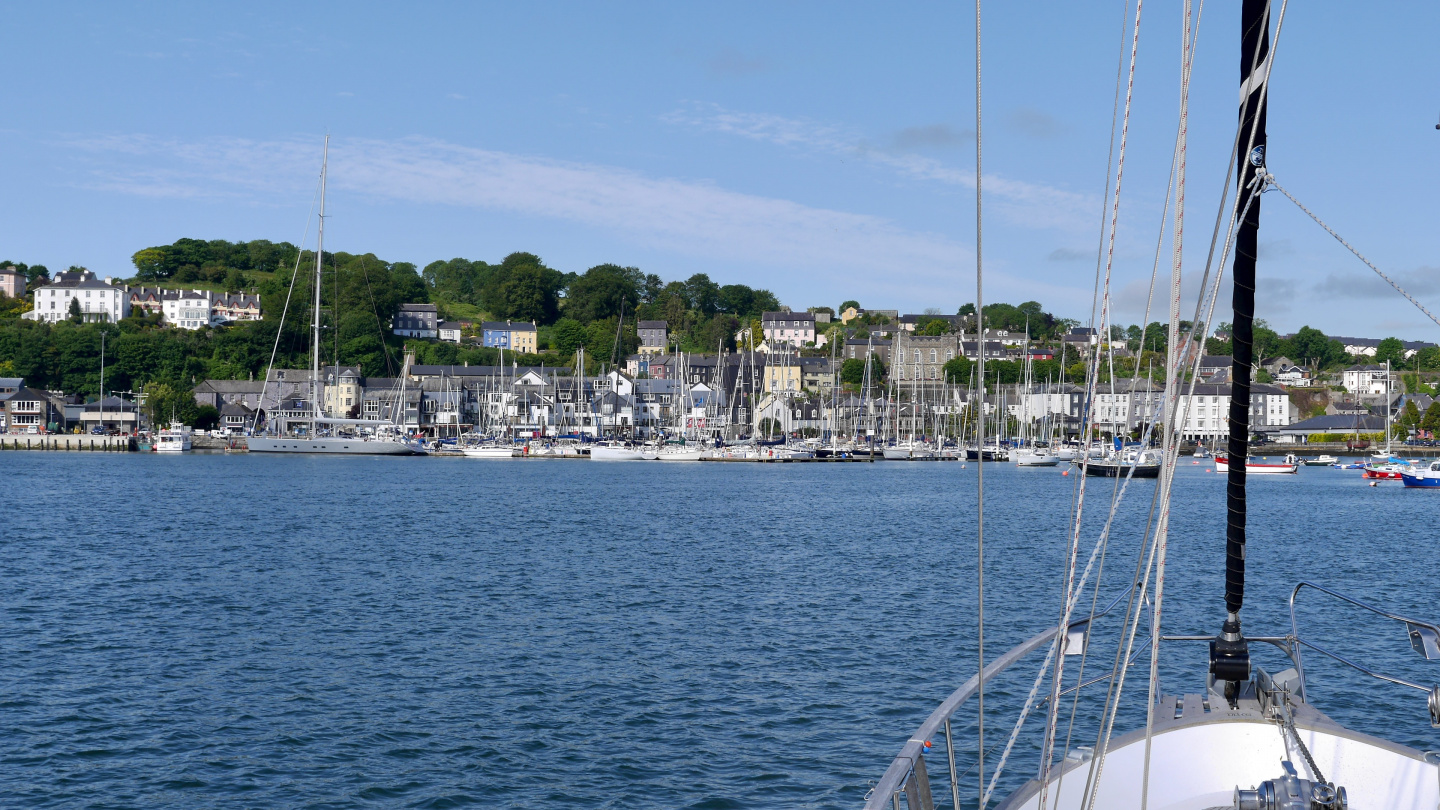
[[[1201,19],[1189,278],[1234,125],[1237,9]],[[1089,317],[1126,13],[986,7],[988,300]],[[130,254],[181,236],[300,241],[328,131],[327,248],[708,272],[796,308],[973,300],[973,6],[13,3],[0,22],[0,254],[16,261],[128,275]],[[1434,3],[1292,4],[1270,108],[1277,179],[1431,308],[1437,22]],[[1179,3],[1149,0],[1122,323],[1145,308],[1179,39]],[[1282,330],[1440,340],[1279,195],[1261,254],[1260,314]]]

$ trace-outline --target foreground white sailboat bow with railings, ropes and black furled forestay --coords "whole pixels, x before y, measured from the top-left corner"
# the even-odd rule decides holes
[[[1270,58],[1270,6],[1266,0],[1241,0],[1240,33],[1240,121],[1234,135],[1234,200],[1228,195],[1221,200],[1221,213],[1225,205],[1233,203],[1233,222],[1236,223],[1231,236],[1224,229],[1223,249],[1218,251],[1218,267],[1224,267],[1227,258],[1234,257],[1230,280],[1233,285],[1233,320],[1231,320],[1231,401],[1230,424],[1246,425],[1250,419],[1250,391],[1251,370],[1254,368],[1254,290],[1256,290],[1256,255],[1259,252],[1260,225],[1260,193],[1267,183],[1273,183],[1264,163],[1264,101],[1269,89],[1269,76],[1274,65]],[[1174,193],[1178,200],[1185,196],[1185,110],[1189,88],[1189,65],[1194,53],[1195,36],[1191,32],[1197,20],[1195,7],[1191,0],[1184,0],[1181,36],[1181,123],[1176,127],[1175,167],[1172,169]],[[1282,17],[1283,19],[1283,17]],[[1133,86],[1135,52],[1139,37],[1139,6],[1135,9],[1135,35],[1126,40],[1130,53],[1130,75],[1126,79],[1123,71],[1116,78],[1117,98],[1120,86]],[[1276,23],[1276,36],[1279,36]],[[976,16],[976,40],[979,42],[979,17]],[[1136,45],[1130,45],[1135,42]],[[976,46],[976,59],[979,59]],[[1123,62],[1122,62],[1123,66]],[[976,65],[976,76],[981,75]],[[1126,84],[1126,81],[1129,84]],[[978,94],[976,94],[978,95]],[[1129,124],[1129,98],[1126,97],[1125,118],[1119,131],[1123,133]],[[979,104],[976,104],[976,143],[981,143]],[[975,177],[985,177],[979,166],[979,148],[976,148]],[[1119,177],[1123,174],[1122,163],[1115,167],[1115,210],[1119,210]],[[979,186],[979,183],[976,183]],[[1227,183],[1227,189],[1230,183]],[[976,206],[981,205],[979,189],[976,189]],[[1355,809],[1385,809],[1385,810],[1434,810],[1440,804],[1440,755],[1418,751],[1407,745],[1397,744],[1375,735],[1349,729],[1333,718],[1328,716],[1313,700],[1320,696],[1333,695],[1336,703],[1351,711],[1368,712],[1375,718],[1377,726],[1387,726],[1387,721],[1395,712],[1410,712],[1424,716],[1428,709],[1431,725],[1440,726],[1440,687],[1416,683],[1404,677],[1380,673],[1369,662],[1358,662],[1346,653],[1351,647],[1335,647],[1329,643],[1320,644],[1322,638],[1315,633],[1315,627],[1302,628],[1300,611],[1302,597],[1323,597],[1331,604],[1354,614],[1362,614],[1367,627],[1395,627],[1404,628],[1411,649],[1427,660],[1440,660],[1440,626],[1420,618],[1400,615],[1382,607],[1368,604],[1338,589],[1313,582],[1299,582],[1289,589],[1289,623],[1283,628],[1264,636],[1247,636],[1243,627],[1246,578],[1247,574],[1264,577],[1273,568],[1257,562],[1247,566],[1247,558],[1263,561],[1274,549],[1257,548],[1247,553],[1247,502],[1246,484],[1250,473],[1248,464],[1231,464],[1225,468],[1225,552],[1223,558],[1215,555],[1215,566],[1224,568],[1224,598],[1217,600],[1215,618],[1218,633],[1214,636],[1191,636],[1166,631],[1162,623],[1162,607],[1166,581],[1166,542],[1169,538],[1169,496],[1175,480],[1175,464],[1178,447],[1182,438],[1182,401],[1178,393],[1184,375],[1198,366],[1184,362],[1181,352],[1175,347],[1181,342],[1189,342],[1195,336],[1189,334],[1179,321],[1181,280],[1182,280],[1182,228],[1181,212],[1176,210],[1176,225],[1171,232],[1174,244],[1174,259],[1171,271],[1171,301],[1169,301],[1169,331],[1166,350],[1166,393],[1164,402],[1164,458],[1162,476],[1156,490],[1159,509],[1155,515],[1155,529],[1148,535],[1146,548],[1136,555],[1133,578],[1126,578],[1126,585],[1113,598],[1100,600],[1100,585],[1094,588],[1094,597],[1086,591],[1092,565],[1109,538],[1109,525],[1094,540],[1094,551],[1090,552],[1090,562],[1084,561],[1081,549],[1076,545],[1081,536],[1080,506],[1083,499],[1077,499],[1077,515],[1073,519],[1073,535],[1067,538],[1064,589],[1058,621],[1027,641],[1012,647],[998,657],[985,654],[985,499],[984,477],[976,476],[978,487],[978,630],[975,631],[978,662],[971,670],[973,675],[950,693],[926,719],[910,732],[900,744],[900,749],[891,760],[890,767],[873,783],[865,796],[865,810],[897,810],[901,804],[910,810],[930,810],[936,806],[936,796],[942,796],[946,804],[959,807],[996,807],[999,810],[1100,810],[1100,809],[1166,809],[1166,810],[1344,810]],[[1110,225],[1103,235],[1102,252],[1113,248],[1116,238],[1116,216],[1112,215]],[[976,216],[976,222],[981,218]],[[1221,219],[1223,222],[1223,219]],[[981,239],[976,238],[976,244]],[[1211,274],[1207,259],[1205,278],[1214,284],[1218,293],[1218,271]],[[982,261],[976,251],[976,301],[978,317],[984,314],[982,297],[979,294]],[[1109,304],[1109,275],[1104,284],[1097,285],[1097,297],[1103,295],[1097,311],[1100,320],[1097,327],[1104,333],[1106,307]],[[1215,313],[1204,307],[1208,290],[1201,290],[1201,300],[1195,306],[1198,319],[1191,323],[1211,323]],[[1214,294],[1208,298],[1214,301]],[[1187,313],[1188,314],[1188,313]],[[1201,321],[1201,319],[1204,319]],[[1094,370],[1092,380],[1094,378]],[[1093,382],[1090,383],[1093,385]],[[1094,414],[1093,405],[1087,406],[1087,424],[1081,430],[1090,431],[1093,422],[1089,418]],[[1228,431],[1227,457],[1248,458],[1248,431]],[[1437,470],[1440,473],[1440,470]],[[1079,486],[1084,486],[1084,479]],[[1117,490],[1119,491],[1119,490]],[[1119,497],[1119,496],[1117,496]],[[1113,507],[1112,507],[1113,509]],[[1113,512],[1112,512],[1113,515]],[[1185,519],[1184,516],[1175,516]],[[1224,562],[1221,562],[1221,559]],[[1099,579],[1099,577],[1097,577]],[[1172,600],[1175,597],[1171,597]],[[1223,610],[1221,610],[1223,608]],[[1251,608],[1253,610],[1253,608]],[[1282,607],[1282,611],[1284,608]],[[1109,672],[1090,676],[1087,682],[1079,676],[1064,672],[1066,659],[1079,656],[1084,662],[1089,646],[1099,644],[1093,626],[1097,621],[1110,621],[1115,617],[1119,624],[1119,634],[1112,651],[1092,651],[1090,656],[1102,656],[1102,664]],[[1148,621],[1146,621],[1148,620]],[[1392,623],[1392,624],[1390,624]],[[1145,636],[1140,636],[1136,646],[1139,628],[1148,624]],[[1336,627],[1333,620],[1326,623]],[[1342,620],[1341,626],[1349,621]],[[1398,636],[1398,633],[1397,633]],[[1398,641],[1398,638],[1397,638]],[[1162,643],[1165,644],[1162,647]],[[1378,643],[1372,634],[1367,643]],[[1208,646],[1205,656],[1208,666],[1191,669],[1175,667],[1175,660],[1169,659],[1169,670],[1165,675],[1166,686],[1188,680],[1195,692],[1166,692],[1161,685],[1161,654],[1164,650],[1174,650],[1176,644],[1195,644],[1200,650]],[[1286,663],[1284,669],[1269,672],[1260,666],[1260,647],[1277,650]],[[1139,662],[1140,653],[1148,650],[1148,677],[1132,676],[1132,664]],[[1251,650],[1256,657],[1251,659]],[[887,650],[890,653],[891,650]],[[994,718],[986,718],[985,698],[994,696],[996,687],[991,683],[1002,676],[1008,669],[1024,660],[1030,653],[1044,651],[1045,657],[1035,672],[1034,685],[1024,698],[1024,705],[1018,719],[1004,722],[996,732]],[[1312,695],[1310,680],[1315,679],[1308,672],[1305,654],[1325,656],[1339,664],[1354,667],[1367,677],[1374,690],[1341,690],[1328,687]],[[1110,664],[1113,660],[1113,667]],[[1136,667],[1139,669],[1139,667]],[[1064,675],[1071,675],[1071,682]],[[1089,672],[1086,672],[1089,675]],[[1308,675],[1310,677],[1308,677]],[[1129,692],[1125,690],[1126,677],[1136,682]],[[1015,703],[1027,695],[1025,685],[1030,673],[1024,673],[1024,680],[1018,689],[1011,689],[1012,683],[999,687],[1002,698],[1012,696]],[[1096,686],[1096,693],[1086,702],[1080,699],[1079,690],[1089,685]],[[1041,690],[1044,689],[1044,693]],[[1381,690],[1405,689],[1411,700],[1392,700],[1391,695]],[[1418,695],[1416,695],[1418,692]],[[1071,696],[1074,693],[1074,696]],[[1100,699],[1103,696],[1103,702]],[[1136,706],[1123,711],[1123,699],[1130,698]],[[973,716],[963,716],[962,709]],[[1017,748],[1017,741],[1025,731],[1025,719],[1034,709],[1037,725],[1044,726],[1040,739],[1027,739],[1022,748]],[[1079,712],[1084,712],[1086,731],[1076,725]],[[1067,721],[1068,715],[1068,721]],[[1117,719],[1132,718],[1129,731],[1117,731]],[[1143,718],[1143,721],[1140,721]],[[986,735],[986,728],[989,735]],[[966,729],[966,731],[960,731]],[[968,729],[976,729],[969,734]],[[1076,736],[1071,736],[1073,729]],[[1008,732],[1008,735],[1007,735]],[[965,738],[959,738],[965,734]],[[1086,736],[1079,736],[1086,734]],[[899,735],[897,735],[899,736]],[[1084,745],[1068,749],[1070,739],[1083,739]],[[1093,745],[1092,745],[1093,742]],[[1014,767],[1012,754],[1027,752],[1024,767],[1028,780],[1018,787],[1004,788],[1001,783],[1005,767]],[[1037,754],[1031,757],[1030,752]],[[1038,760],[1031,762],[1030,760]],[[1035,767],[1038,765],[1038,767]],[[936,774],[936,777],[932,777]],[[940,775],[943,774],[943,775]],[[939,785],[935,778],[942,778]],[[1009,777],[1009,783],[1017,783],[1017,777]],[[963,785],[962,785],[963,783]],[[940,793],[936,787],[948,787]],[[963,790],[963,798],[962,798]]]

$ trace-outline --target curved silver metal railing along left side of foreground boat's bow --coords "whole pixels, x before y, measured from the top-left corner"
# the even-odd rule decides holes
[[[1107,615],[1112,610],[1115,610],[1115,607],[1119,605],[1123,600],[1126,600],[1135,591],[1135,588],[1136,585],[1132,584],[1129,588],[1119,592],[1113,600],[1110,600],[1107,605],[1104,605],[1094,614],[1076,618],[1074,621],[1070,621],[1066,626],[1057,624],[1048,630],[1043,630],[1031,636],[1030,638],[1017,644],[1015,647],[1011,647],[1005,654],[999,656],[998,659],[985,666],[985,683],[991,683],[996,676],[999,676],[1002,672],[1014,666],[1017,662],[1020,662],[1030,653],[1044,647],[1048,643],[1053,643],[1056,634],[1058,634],[1061,628],[1066,630],[1067,638],[1064,644],[1067,651],[1071,644],[1077,646],[1084,644],[1086,637],[1089,636],[1090,631],[1090,624],[1094,620]],[[1094,679],[1089,679],[1086,683],[1081,683],[1080,686],[1087,686],[1090,683],[1104,680],[1112,675],[1113,673],[1106,673]],[[969,680],[966,680],[959,689],[952,692],[949,698],[946,698],[939,706],[936,706],[933,712],[930,712],[930,716],[927,716],[924,722],[920,724],[920,728],[917,728],[914,734],[910,735],[906,744],[900,748],[900,752],[896,754],[894,760],[890,761],[890,767],[886,768],[886,773],[880,777],[880,781],[877,781],[874,787],[870,788],[870,793],[865,794],[865,810],[884,810],[886,807],[894,807],[896,810],[899,810],[901,796],[906,797],[906,806],[910,809],[930,810],[935,807],[935,801],[932,798],[932,791],[930,791],[930,777],[924,764],[924,755],[932,748],[932,739],[935,739],[940,734],[945,735],[950,785],[952,790],[955,788],[958,777],[955,764],[955,738],[950,731],[950,719],[960,709],[960,706],[969,702],[969,699],[979,692],[979,686],[981,686],[981,676],[979,675],[971,676]],[[1076,687],[1071,687],[1067,689],[1064,693],[1070,693],[1074,690]]]

